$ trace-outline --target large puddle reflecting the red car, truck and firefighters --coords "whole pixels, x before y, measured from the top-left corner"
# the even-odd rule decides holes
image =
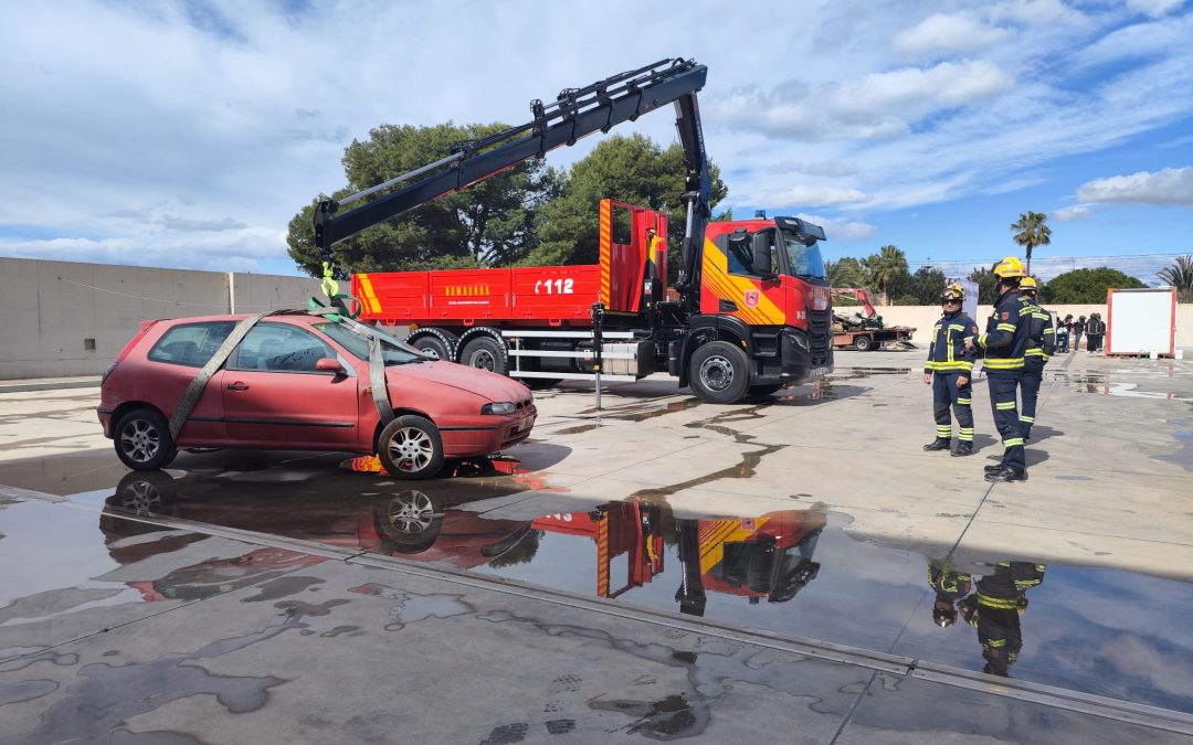
[[[748,416],[744,408],[721,420]],[[716,418],[699,426],[723,426]],[[717,478],[747,477],[769,447],[759,445]],[[1183,622],[1193,585],[1187,583],[997,555],[946,567],[938,559],[947,548],[925,557],[859,541],[846,530],[847,516],[816,507],[678,516],[667,497],[686,484],[644,489],[588,511],[515,520],[497,517],[500,507],[490,514],[459,507],[517,497],[525,514],[536,495],[532,474],[412,488],[341,473],[334,477],[338,490],[319,479],[314,486],[271,486],[235,474],[147,476],[161,474],[130,474],[107,499],[101,529],[110,546],[143,545],[134,539],[143,540],[147,527],[116,520],[120,514],[173,515],[1193,712],[1193,629]],[[1082,477],[1062,477],[1074,478]],[[295,575],[267,582],[271,567],[293,560],[204,563],[150,586],[161,596],[169,595],[161,589],[168,586],[202,592],[240,582],[252,566],[261,570],[251,575],[260,597],[270,600],[307,588]],[[410,614],[446,613],[395,601],[394,623]],[[952,622],[942,627],[942,619]],[[1157,669],[1154,659],[1172,664]],[[650,710],[650,702],[635,706]]]

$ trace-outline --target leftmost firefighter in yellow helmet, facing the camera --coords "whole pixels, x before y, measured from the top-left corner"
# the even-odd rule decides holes
[[[973,350],[965,347],[966,339],[977,336],[977,324],[962,311],[965,291],[960,285],[948,285],[940,293],[944,313],[933,328],[928,344],[928,361],[923,365],[923,381],[932,385],[933,415],[937,417],[937,439],[923,446],[926,451],[947,451],[953,439],[953,422],[948,406],[957,414],[957,447],[952,455],[973,454],[973,409],[970,380],[973,372]]]

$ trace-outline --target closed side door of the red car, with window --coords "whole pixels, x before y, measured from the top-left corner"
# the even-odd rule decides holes
[[[315,370],[336,359],[342,374]],[[262,322],[240,342],[223,372],[224,421],[233,443],[280,449],[356,449],[357,371],[311,331]]]

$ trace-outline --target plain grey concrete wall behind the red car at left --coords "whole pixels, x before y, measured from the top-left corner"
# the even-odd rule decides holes
[[[229,284],[234,293],[229,293]],[[299,277],[0,257],[0,379],[103,373],[148,318],[305,306]]]

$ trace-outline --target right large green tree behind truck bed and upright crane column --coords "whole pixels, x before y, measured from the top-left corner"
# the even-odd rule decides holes
[[[712,181],[710,206],[715,206],[729,190],[716,166],[710,163],[709,172]],[[684,148],[678,143],[665,150],[642,135],[602,141],[571,167],[563,193],[543,210],[542,241],[521,263],[595,263],[598,206],[601,199],[616,199],[668,212],[668,277],[674,278],[687,221],[687,210],[679,199],[685,174]],[[731,215],[717,217],[731,218]]]

